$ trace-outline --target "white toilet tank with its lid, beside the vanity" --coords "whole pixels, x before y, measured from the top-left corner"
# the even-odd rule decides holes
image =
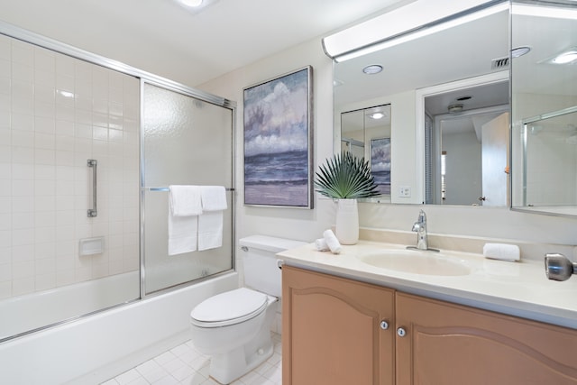
[[[242,249],[244,286],[280,297],[281,274],[277,252],[302,246],[305,242],[268,235],[251,235],[239,240]]]

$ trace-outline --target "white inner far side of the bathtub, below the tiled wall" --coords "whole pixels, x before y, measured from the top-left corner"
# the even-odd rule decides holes
[[[0,340],[140,297],[138,270],[0,301]]]

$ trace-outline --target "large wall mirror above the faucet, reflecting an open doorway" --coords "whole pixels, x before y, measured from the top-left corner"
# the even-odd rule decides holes
[[[335,137],[346,116],[389,105],[390,134],[371,135],[390,137],[390,202],[508,206],[508,33],[504,2],[335,62]]]

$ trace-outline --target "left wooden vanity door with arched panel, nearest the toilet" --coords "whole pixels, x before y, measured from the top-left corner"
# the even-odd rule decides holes
[[[392,385],[393,301],[390,289],[283,266],[282,384]]]

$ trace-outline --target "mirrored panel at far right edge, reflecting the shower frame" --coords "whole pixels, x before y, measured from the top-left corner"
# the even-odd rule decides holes
[[[577,3],[514,2],[512,207],[577,215]]]

